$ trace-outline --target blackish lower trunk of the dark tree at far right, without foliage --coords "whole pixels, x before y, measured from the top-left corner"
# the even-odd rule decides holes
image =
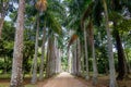
[[[124,76],[128,75],[127,72],[127,63],[126,63],[126,57],[121,44],[121,39],[119,36],[119,32],[115,29],[115,38],[116,38],[116,46],[118,51],[118,77],[117,79],[123,79]]]

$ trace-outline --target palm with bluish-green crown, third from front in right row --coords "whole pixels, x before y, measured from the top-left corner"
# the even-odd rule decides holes
[[[86,59],[86,78],[88,79],[88,54],[87,54],[87,35],[86,35],[86,23],[82,25],[81,27],[81,18],[82,18],[82,13],[84,13],[85,8],[88,5],[88,1],[85,0],[74,0],[74,1],[69,1],[69,12],[70,15],[69,17],[69,27],[73,28],[76,33],[81,32],[81,34],[84,35],[84,50],[85,50],[85,59]],[[73,8],[72,8],[73,7]],[[84,30],[83,30],[84,29]],[[82,41],[82,40],[81,40]]]

